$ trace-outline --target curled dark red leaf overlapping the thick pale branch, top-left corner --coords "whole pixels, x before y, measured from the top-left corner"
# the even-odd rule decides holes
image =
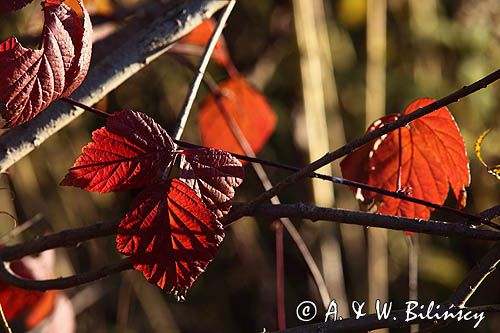
[[[54,100],[69,96],[85,78],[92,25],[79,4],[83,17],[61,1],[42,3],[41,49],[27,49],[15,37],[0,44],[0,110],[5,128],[34,118]]]

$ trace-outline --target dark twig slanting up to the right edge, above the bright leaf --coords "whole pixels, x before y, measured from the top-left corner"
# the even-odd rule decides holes
[[[351,141],[350,143],[342,146],[341,148],[327,153],[325,156],[322,158],[316,160],[315,162],[309,164],[308,166],[302,168],[300,171],[297,171],[296,173],[292,174],[291,176],[287,177],[283,181],[279,182],[276,184],[271,190],[268,190],[252,201],[248,202],[245,206],[240,207],[238,210],[234,210],[231,212],[231,217],[230,219],[236,220],[241,216],[244,216],[246,213],[251,212],[255,207],[258,205],[269,201],[270,198],[276,196],[278,193],[283,191],[285,188],[289,187],[290,185],[296,183],[300,179],[307,177],[307,175],[311,174],[315,170],[321,168],[324,165],[327,165],[328,163],[331,163],[332,161],[335,161],[347,154],[350,154],[354,150],[358,149],[362,145],[372,141],[373,139],[376,139],[384,134],[388,134],[391,131],[394,131],[395,129],[398,129],[400,127],[406,126],[408,123],[411,121],[418,119],[420,117],[423,117],[433,111],[436,111],[442,107],[445,107],[449,104],[455,103],[461,98],[468,96],[480,89],[486,88],[489,84],[497,81],[500,79],[500,69],[496,70],[495,72],[485,76],[484,78],[472,83],[469,86],[465,86],[450,95],[441,98],[437,100],[436,102],[429,104],[425,107],[422,107],[415,112],[412,112],[408,115],[404,115],[400,117],[399,119],[387,123],[381,128],[378,128],[370,133],[365,134],[363,137],[358,138],[356,140]]]

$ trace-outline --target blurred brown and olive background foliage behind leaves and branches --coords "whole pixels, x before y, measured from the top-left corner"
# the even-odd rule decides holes
[[[148,1],[87,1],[93,13],[96,38],[113,33],[140,12]],[[340,137],[347,141],[362,135],[365,123],[366,0],[325,0],[324,17],[338,96],[336,112],[341,119]],[[0,21],[0,36],[11,34],[36,40],[42,17],[34,4]],[[294,165],[308,162],[307,135],[300,71],[300,53],[295,36],[291,0],[239,0],[225,30],[228,48],[236,67],[268,98],[278,116],[278,126],[260,157]],[[472,83],[500,64],[500,2],[497,0],[408,0],[388,1],[387,8],[386,113],[397,113],[418,97],[439,98]],[[36,42],[33,43],[36,45]],[[106,50],[99,45],[93,61]],[[197,61],[194,57],[193,61]],[[226,74],[216,65],[209,68],[216,80]],[[125,108],[152,115],[168,130],[175,126],[177,114],[194,74],[165,55],[135,75],[98,105],[109,112]],[[207,90],[202,89],[201,95]],[[496,83],[450,107],[470,157],[472,184],[466,210],[480,212],[498,204],[498,181],[488,175],[474,156],[474,141],[487,128],[495,129],[485,140],[483,157],[498,163],[500,158],[500,84]],[[198,99],[198,101],[200,101]],[[370,101],[366,101],[369,103]],[[184,140],[199,143],[196,107]],[[28,157],[2,175],[1,210],[23,221],[29,229],[11,238],[14,242],[37,235],[89,225],[96,221],[121,218],[134,192],[99,195],[76,188],[58,186],[91,132],[103,125],[101,119],[85,114],[54,135]],[[331,148],[340,146],[329,121]],[[256,128],[256,131],[259,129]],[[314,145],[314,142],[313,142]],[[268,169],[272,181],[286,172]],[[334,173],[336,169],[334,168]],[[338,174],[337,174],[338,175]],[[246,201],[262,191],[247,168],[237,200]],[[335,188],[336,207],[358,209],[351,192]],[[310,181],[302,181],[285,191],[283,202],[313,202]],[[450,204],[453,204],[450,202]],[[41,215],[40,215],[41,214]],[[33,217],[42,217],[32,220]],[[433,218],[455,220],[435,213]],[[187,301],[176,303],[139,273],[127,272],[98,283],[69,290],[77,312],[79,332],[261,332],[276,329],[275,253],[272,221],[244,218],[227,229],[226,239],[214,262],[199,278]],[[366,230],[338,228],[325,222],[295,221],[302,236],[325,274],[343,272],[345,283],[329,284],[332,298],[345,284],[347,301],[367,300]],[[4,232],[13,219],[0,215]],[[338,265],[329,261],[324,243],[335,235],[341,256]],[[4,239],[5,241],[5,239]],[[422,302],[444,300],[490,244],[480,241],[419,236],[419,298]],[[388,232],[389,299],[394,306],[408,300],[408,236]],[[326,251],[326,252],[325,252]],[[333,254],[332,254],[333,255]],[[95,269],[118,260],[113,238],[97,239],[76,249],[58,252],[57,275]],[[306,265],[288,236],[285,237],[285,291],[287,325],[301,324],[295,307],[303,300],[321,304]],[[500,302],[499,273],[484,283],[472,304]],[[322,311],[320,310],[322,317]],[[498,332],[500,317],[488,315],[477,332]],[[452,325],[442,332],[468,332],[470,323]],[[403,330],[402,330],[403,331]]]

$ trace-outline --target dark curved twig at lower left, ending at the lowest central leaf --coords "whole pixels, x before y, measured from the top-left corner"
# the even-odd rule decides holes
[[[97,271],[84,272],[77,275],[50,279],[50,280],[29,280],[21,278],[12,272],[6,266],[5,262],[0,263],[0,280],[27,290],[59,290],[77,287],[86,283],[94,282],[100,280],[104,277],[123,272],[128,269],[132,269],[132,260],[130,258],[122,259],[117,263],[100,268]]]

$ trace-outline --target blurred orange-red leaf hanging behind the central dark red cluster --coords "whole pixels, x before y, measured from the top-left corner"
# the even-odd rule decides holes
[[[266,98],[243,77],[224,81],[220,89],[222,97],[210,94],[202,103],[199,127],[203,145],[244,154],[228,125],[229,120],[238,125],[253,151],[258,153],[276,125],[276,115]]]

